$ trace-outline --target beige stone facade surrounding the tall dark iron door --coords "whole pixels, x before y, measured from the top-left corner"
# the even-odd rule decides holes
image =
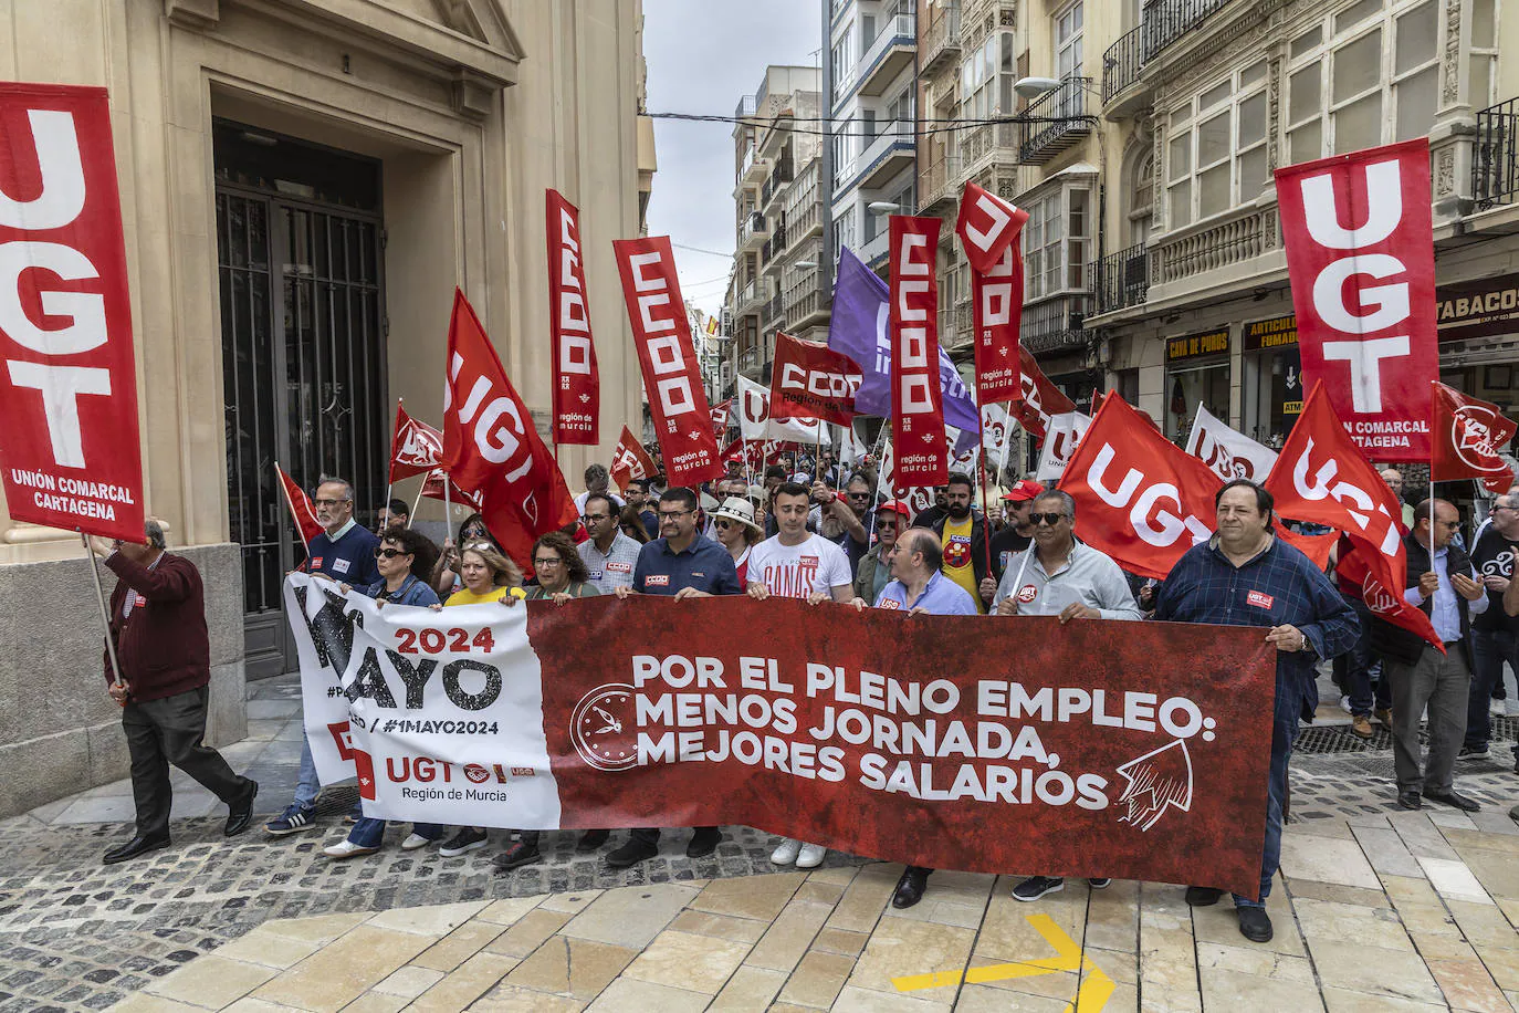
[[[611,240],[638,234],[641,5],[626,0],[0,0],[0,77],[105,85],[138,357],[147,509],[228,538],[211,117],[383,161],[390,396],[437,421],[453,287],[548,407],[544,188],[580,207],[598,448],[639,418]],[[150,372],[149,372],[150,371]],[[0,507],[0,565],[79,554]]]

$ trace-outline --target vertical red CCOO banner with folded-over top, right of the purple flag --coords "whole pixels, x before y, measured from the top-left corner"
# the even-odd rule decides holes
[[[955,232],[971,263],[975,387],[983,407],[1012,401],[1022,392],[1018,369],[1018,328],[1024,310],[1019,234],[1027,220],[1027,211],[974,182],[965,184]]]

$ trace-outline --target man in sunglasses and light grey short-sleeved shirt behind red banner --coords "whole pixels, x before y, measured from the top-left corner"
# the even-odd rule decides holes
[[[1033,544],[1009,557],[992,606],[996,615],[1057,615],[1071,620],[1142,620],[1129,580],[1107,554],[1075,541],[1075,501],[1053,489],[1033,500]],[[1110,879],[1088,879],[1094,890]],[[1037,901],[1065,888],[1059,876],[1028,876],[1015,901]]]

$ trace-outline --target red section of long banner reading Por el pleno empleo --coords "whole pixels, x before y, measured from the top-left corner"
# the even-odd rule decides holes
[[[681,604],[529,607],[561,826],[741,823],[939,869],[1259,887],[1259,630]]]

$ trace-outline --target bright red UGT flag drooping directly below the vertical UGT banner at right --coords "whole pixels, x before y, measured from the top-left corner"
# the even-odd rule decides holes
[[[1402,504],[1346,433],[1322,381],[1312,386],[1264,484],[1282,516],[1328,524],[1350,538],[1366,568],[1363,589],[1372,612],[1445,650],[1429,617],[1402,597],[1408,574]],[[1343,563],[1340,574],[1355,579]]]

